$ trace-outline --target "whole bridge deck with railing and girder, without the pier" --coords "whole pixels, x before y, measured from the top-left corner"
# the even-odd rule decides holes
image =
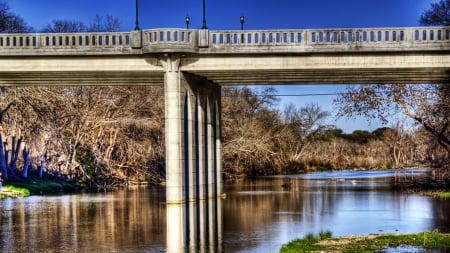
[[[448,82],[450,27],[0,34],[0,85],[162,85],[167,54],[222,85]]]

